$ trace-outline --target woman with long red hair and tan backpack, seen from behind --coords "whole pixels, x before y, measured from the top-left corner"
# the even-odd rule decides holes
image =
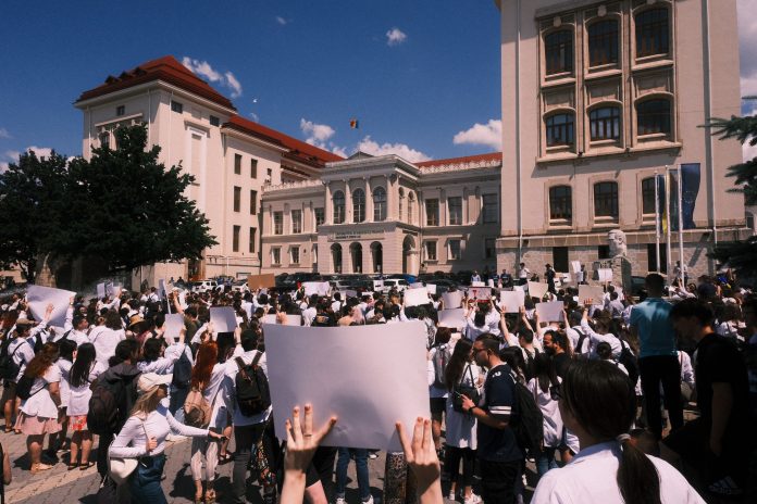
[[[219,393],[226,364],[219,363],[219,345],[208,339],[197,350],[197,361],[191,370],[191,390],[200,390],[202,398],[210,406],[210,418],[207,418],[209,428],[215,432],[222,431],[226,424],[226,410],[223,398]],[[204,478],[202,477],[202,455],[206,458]],[[191,441],[191,477],[195,480],[195,502],[202,502],[202,480],[206,480],[206,504],[215,501],[213,480],[215,467],[219,463],[219,443],[214,440],[195,438]]]

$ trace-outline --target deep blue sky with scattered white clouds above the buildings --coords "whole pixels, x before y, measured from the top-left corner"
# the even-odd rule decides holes
[[[739,1],[742,43],[754,48],[757,24],[743,14],[757,0]],[[241,115],[338,153],[498,149],[492,0],[3,0],[0,18],[0,166],[30,147],[79,154],[78,94],[166,54]],[[757,92],[755,51],[741,52],[744,87]]]

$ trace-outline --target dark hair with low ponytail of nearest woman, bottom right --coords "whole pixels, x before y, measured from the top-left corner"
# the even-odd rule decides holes
[[[623,371],[603,361],[576,361],[566,371],[561,408],[587,433],[612,441],[626,433],[636,414],[636,398]],[[622,441],[618,487],[626,504],[660,504],[660,478],[649,458],[629,439]]]

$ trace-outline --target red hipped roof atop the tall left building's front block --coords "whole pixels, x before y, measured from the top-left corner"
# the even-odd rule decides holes
[[[127,89],[139,84],[158,79],[165,80],[189,92],[194,92],[221,106],[236,110],[228,98],[218,92],[208,83],[199,78],[171,55],[142,63],[131,71],[123,72],[117,77],[109,75],[104,84],[88,91],[84,91],[76,102],[101,97],[113,91]]]

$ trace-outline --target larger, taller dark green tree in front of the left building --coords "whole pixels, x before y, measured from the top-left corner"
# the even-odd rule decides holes
[[[159,163],[160,147],[146,150],[145,126],[120,128],[115,140],[115,150],[95,149],[89,162],[71,162],[66,192],[76,217],[59,252],[99,257],[111,272],[200,259],[216,241],[184,194],[194,177],[181,164]]]

